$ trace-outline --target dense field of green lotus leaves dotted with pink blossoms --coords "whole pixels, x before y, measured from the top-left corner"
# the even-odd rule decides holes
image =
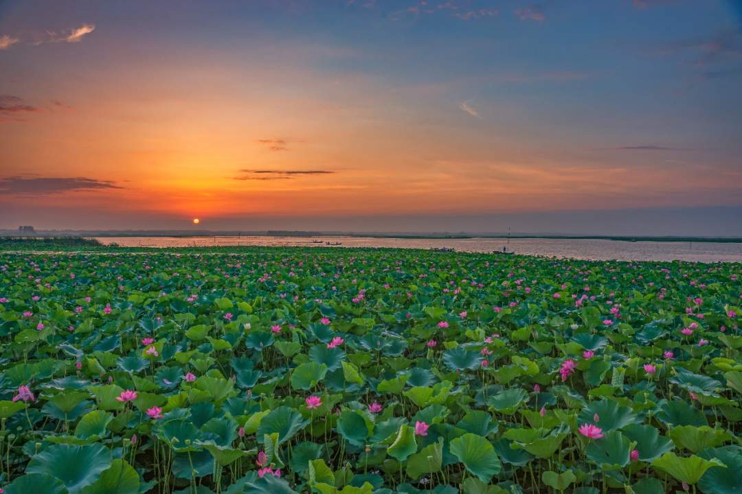
[[[0,252],[0,492],[742,493],[740,264]]]

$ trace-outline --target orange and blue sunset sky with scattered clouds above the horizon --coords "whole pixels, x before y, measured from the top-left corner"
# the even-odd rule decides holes
[[[738,0],[0,0],[0,228],[742,236],[741,88]]]

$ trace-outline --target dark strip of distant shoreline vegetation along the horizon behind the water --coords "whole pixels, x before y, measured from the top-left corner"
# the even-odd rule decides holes
[[[238,231],[210,231],[210,230],[39,230],[34,235],[19,236],[14,230],[0,230],[0,245],[19,243],[22,241],[48,241],[47,238],[59,238],[63,241],[94,241],[92,237],[171,237],[171,238],[195,238],[195,237],[298,237],[298,238],[418,238],[436,240],[462,240],[466,238],[545,238],[552,240],[610,240],[610,241],[652,241],[652,242],[713,242],[722,244],[740,244],[742,237],[724,236],[605,236],[605,235],[558,235],[558,234],[536,234],[536,233],[349,233],[349,232],[302,232],[268,230],[260,232],[238,232]],[[93,245],[93,244],[88,244]]]

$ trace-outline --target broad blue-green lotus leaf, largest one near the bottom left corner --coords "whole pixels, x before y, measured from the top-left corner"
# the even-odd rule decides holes
[[[55,444],[31,458],[26,473],[48,473],[59,478],[70,494],[82,491],[111,467],[111,450],[102,444]]]

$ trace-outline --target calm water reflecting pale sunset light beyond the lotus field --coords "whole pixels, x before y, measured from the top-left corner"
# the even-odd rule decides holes
[[[626,242],[571,238],[370,238],[370,237],[99,237],[102,244],[125,247],[214,247],[232,245],[326,247],[450,247],[462,252],[491,252],[507,246],[519,254],[620,261],[742,262],[742,244],[713,242]],[[321,241],[313,243],[312,241]]]

